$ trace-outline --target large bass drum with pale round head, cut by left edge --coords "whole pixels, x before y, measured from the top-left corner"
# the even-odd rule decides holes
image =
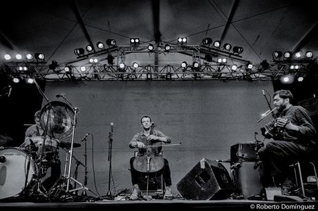
[[[26,152],[17,148],[0,149],[0,199],[19,195],[36,174],[37,167]]]

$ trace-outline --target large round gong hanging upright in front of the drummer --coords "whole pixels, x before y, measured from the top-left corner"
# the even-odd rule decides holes
[[[55,139],[65,139],[72,134],[74,110],[61,101],[47,103],[40,113],[40,125]]]

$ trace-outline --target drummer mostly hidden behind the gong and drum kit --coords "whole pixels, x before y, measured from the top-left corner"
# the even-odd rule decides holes
[[[40,125],[40,112],[41,112],[40,110],[35,112],[35,125],[31,125],[26,130],[25,139],[24,139],[25,143],[27,143],[28,139],[30,139],[30,138],[32,140],[32,137],[43,137],[44,136],[44,130]],[[48,137],[48,135],[46,137],[47,137],[47,139],[50,139],[50,137]],[[28,146],[28,147],[31,147],[31,146]],[[30,149],[28,149],[27,151],[29,151],[29,150]],[[37,150],[37,152],[41,152],[40,151],[41,149],[35,149],[35,150]],[[39,154],[37,156],[39,156]],[[37,159],[39,159],[39,157]],[[37,163],[37,164],[39,164],[39,163]],[[54,162],[49,163],[49,165],[50,165],[50,177],[45,179],[45,181],[42,183],[46,190],[49,190],[50,188],[52,188],[54,183],[61,176],[61,161],[59,159],[57,159]]]

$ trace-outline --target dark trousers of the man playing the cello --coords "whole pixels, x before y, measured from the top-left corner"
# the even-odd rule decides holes
[[[133,185],[138,184],[140,181],[140,177],[143,177],[147,173],[138,172],[133,168],[133,161],[135,160],[135,157],[131,157],[130,159],[130,169],[131,169],[131,183]],[[162,168],[162,170],[159,170],[158,172],[153,172],[149,174],[149,177],[157,177],[162,174],[163,180],[165,181],[166,186],[171,185],[171,172],[169,168],[169,163],[167,159],[165,160],[165,164]]]

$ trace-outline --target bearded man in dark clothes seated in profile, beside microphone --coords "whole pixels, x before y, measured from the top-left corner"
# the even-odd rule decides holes
[[[276,132],[268,132],[265,128],[261,130],[265,137],[274,140],[269,140],[257,154],[264,163],[264,174],[267,175],[263,186],[279,186],[282,193],[288,195],[293,188],[291,178],[288,178],[288,165],[312,155],[317,148],[316,130],[308,111],[301,106],[292,106],[293,96],[289,90],[274,92],[273,99],[277,108],[272,121],[273,131]]]

